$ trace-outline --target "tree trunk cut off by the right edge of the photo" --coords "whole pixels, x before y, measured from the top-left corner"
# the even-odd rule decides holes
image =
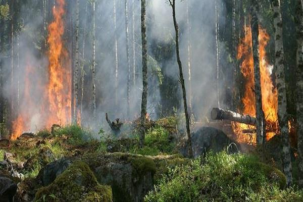
[[[303,187],[303,6],[296,0],[296,119],[299,155],[299,186]]]

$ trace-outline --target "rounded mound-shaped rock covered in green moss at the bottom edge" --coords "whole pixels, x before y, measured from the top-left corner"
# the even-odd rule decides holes
[[[112,201],[112,189],[100,185],[84,162],[74,162],[56,180],[38,189],[36,201]]]

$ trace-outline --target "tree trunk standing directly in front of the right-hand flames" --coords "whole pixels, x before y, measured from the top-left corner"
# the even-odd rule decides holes
[[[259,20],[257,13],[259,11],[258,1],[251,2],[251,37],[252,37],[252,54],[254,56],[255,72],[255,96],[256,96],[256,118],[257,118],[257,145],[262,145],[265,136],[264,113],[262,109],[261,94],[261,75],[259,59]]]

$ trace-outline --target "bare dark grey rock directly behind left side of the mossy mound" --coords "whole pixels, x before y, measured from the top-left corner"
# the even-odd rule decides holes
[[[38,178],[41,180],[43,186],[49,185],[57,176],[63,173],[71,163],[72,162],[68,159],[61,159],[59,161],[52,162],[39,172]]]

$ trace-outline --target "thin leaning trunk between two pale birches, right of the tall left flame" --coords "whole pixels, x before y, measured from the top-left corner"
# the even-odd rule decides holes
[[[85,4],[85,23],[83,30],[83,46],[82,46],[82,65],[81,65],[81,105],[80,105],[80,124],[82,125],[82,112],[83,112],[83,94],[84,94],[84,65],[85,65],[85,38],[86,38],[86,26],[87,26],[87,2]]]

